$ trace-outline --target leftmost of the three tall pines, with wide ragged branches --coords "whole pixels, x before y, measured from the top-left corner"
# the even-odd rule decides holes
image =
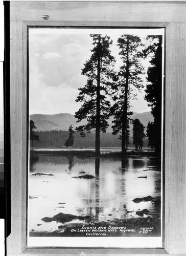
[[[110,116],[108,94],[115,60],[110,52],[112,40],[109,36],[100,34],[90,36],[94,47],[90,59],[85,62],[82,69],[82,75],[87,76],[87,82],[83,88],[79,88],[79,96],[76,99],[83,104],[75,113],[77,122],[86,119],[87,124],[78,126],[76,131],[80,132],[82,137],[85,136],[85,132],[96,131],[96,154],[100,155],[100,132],[106,132],[107,119]]]

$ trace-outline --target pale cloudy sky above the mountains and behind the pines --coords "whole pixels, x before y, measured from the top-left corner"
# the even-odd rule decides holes
[[[113,40],[111,54],[115,68],[122,61],[117,40],[122,34],[146,38],[148,34],[162,34],[163,29],[29,29],[29,112],[30,114],[75,114],[82,102],[76,102],[78,88],[84,87],[87,77],[81,75],[84,63],[91,56],[92,38],[89,34],[107,34]],[[149,60],[143,60],[145,71]],[[131,111],[150,111],[144,100],[144,89],[131,101]]]

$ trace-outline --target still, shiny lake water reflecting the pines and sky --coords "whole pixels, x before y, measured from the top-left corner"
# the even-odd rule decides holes
[[[81,172],[92,179],[73,178]],[[33,174],[53,174],[53,176]],[[138,178],[147,177],[147,178]],[[41,219],[59,212],[92,216],[97,221],[139,218],[136,211],[148,209],[158,215],[153,202],[134,203],[134,198],[161,195],[160,162],[147,157],[93,158],[38,155],[30,159],[29,230],[53,232],[59,224]],[[144,215],[145,217],[145,215]],[[82,223],[82,220],[73,222]]]

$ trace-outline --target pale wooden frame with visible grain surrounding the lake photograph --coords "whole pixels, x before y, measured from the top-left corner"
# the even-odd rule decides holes
[[[43,15],[49,20],[43,20]],[[26,248],[27,28],[108,26],[166,28],[165,249]],[[186,2],[11,2],[11,234],[8,255],[186,253]],[[184,254],[185,255],[185,254]]]

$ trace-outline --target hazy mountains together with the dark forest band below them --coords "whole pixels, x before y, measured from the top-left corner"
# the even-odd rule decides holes
[[[134,113],[132,119],[138,118],[141,123],[146,127],[147,123],[153,121],[150,112]],[[33,120],[37,129],[35,130],[39,136],[39,141],[34,141],[34,147],[63,147],[66,139],[68,138],[68,128],[72,124],[74,129],[78,125],[77,119],[67,113],[56,115],[30,115],[30,120]],[[101,147],[121,147],[121,140],[118,135],[112,135],[111,126],[113,117],[108,120],[109,127],[107,133],[100,133],[100,146]],[[79,124],[83,124],[80,122]],[[129,131],[130,144],[128,147],[134,147],[132,140],[132,124],[130,124]],[[148,139],[144,139],[144,146],[148,146]],[[81,137],[79,133],[74,134],[74,147],[95,147],[95,133],[86,134]]]

